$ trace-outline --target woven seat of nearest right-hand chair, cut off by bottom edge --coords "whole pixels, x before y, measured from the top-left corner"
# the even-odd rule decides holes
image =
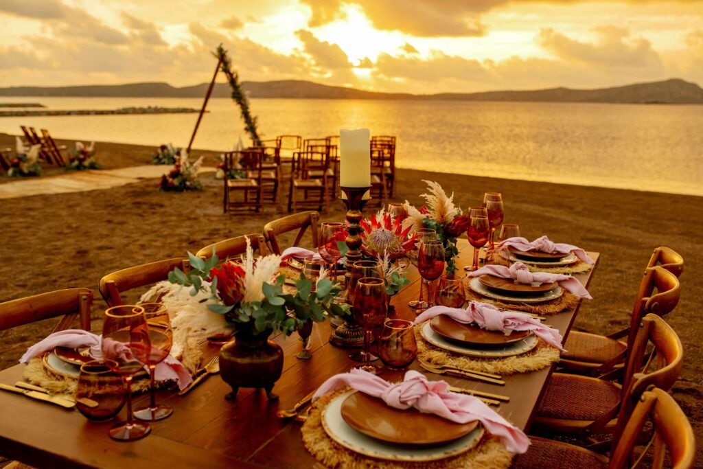
[[[608,465],[604,456],[580,446],[538,437],[530,437],[530,442],[527,453],[515,456],[512,468],[601,469]]]

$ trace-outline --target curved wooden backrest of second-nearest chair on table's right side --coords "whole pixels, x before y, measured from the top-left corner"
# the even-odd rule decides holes
[[[669,272],[667,272],[669,274]],[[648,346],[652,352],[646,361]],[[676,331],[657,314],[647,314],[625,362],[622,383],[622,400],[618,413],[618,430],[614,442],[619,439],[620,430],[631,416],[643,392],[651,386],[668,391],[671,389],[683,366],[683,345]]]

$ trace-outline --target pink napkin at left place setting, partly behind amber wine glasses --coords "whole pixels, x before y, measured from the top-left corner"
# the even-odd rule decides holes
[[[121,342],[115,343],[124,346]],[[32,345],[22,355],[20,363],[27,363],[35,356],[39,356],[44,352],[50,352],[56,347],[70,347],[72,349],[90,347],[90,354],[94,359],[99,360],[103,357],[100,335],[89,333],[87,330],[68,329],[53,333],[44,340]],[[148,369],[146,366],[145,368]],[[154,379],[157,381],[176,381],[181,390],[193,381],[191,373],[188,373],[188,368],[170,355],[160,364],[157,364],[154,370]]]

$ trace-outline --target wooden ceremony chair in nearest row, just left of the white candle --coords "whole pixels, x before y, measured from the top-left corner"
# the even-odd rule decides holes
[[[330,179],[326,162],[325,154],[320,152],[299,151],[293,154],[288,212],[308,208],[328,213]]]

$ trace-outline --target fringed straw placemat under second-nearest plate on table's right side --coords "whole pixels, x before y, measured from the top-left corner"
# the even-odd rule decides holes
[[[449,352],[427,342],[420,333],[423,324],[415,326],[415,339],[418,342],[418,359],[437,365],[451,365],[465,370],[483,371],[498,375],[512,375],[541,370],[559,361],[559,350],[537,339],[537,347],[529,352],[505,358],[482,359]]]

